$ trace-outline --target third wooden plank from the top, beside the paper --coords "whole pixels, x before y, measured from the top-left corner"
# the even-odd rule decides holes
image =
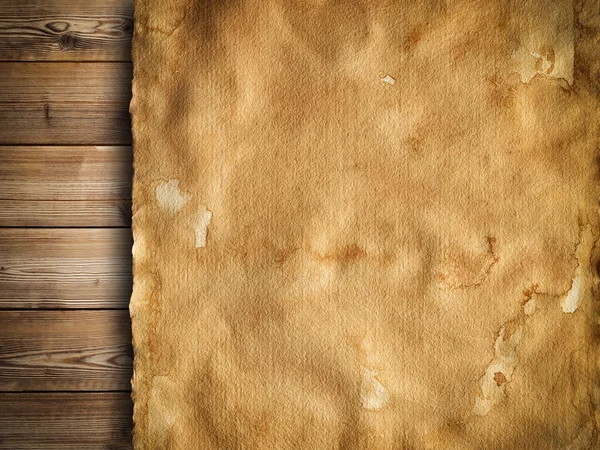
[[[128,227],[131,147],[0,147],[0,227]]]

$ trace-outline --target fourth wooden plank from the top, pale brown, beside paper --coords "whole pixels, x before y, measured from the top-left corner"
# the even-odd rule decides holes
[[[0,229],[0,308],[127,308],[129,229]]]

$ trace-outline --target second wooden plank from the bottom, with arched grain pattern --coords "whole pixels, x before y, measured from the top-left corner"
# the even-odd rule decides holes
[[[128,311],[0,311],[0,392],[123,391]]]

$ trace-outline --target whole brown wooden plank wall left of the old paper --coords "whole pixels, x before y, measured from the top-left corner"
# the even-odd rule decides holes
[[[131,0],[0,0],[0,448],[131,448]]]

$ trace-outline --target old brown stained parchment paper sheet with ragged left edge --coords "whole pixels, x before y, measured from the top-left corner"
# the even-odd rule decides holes
[[[137,449],[599,448],[597,1],[135,7]]]

